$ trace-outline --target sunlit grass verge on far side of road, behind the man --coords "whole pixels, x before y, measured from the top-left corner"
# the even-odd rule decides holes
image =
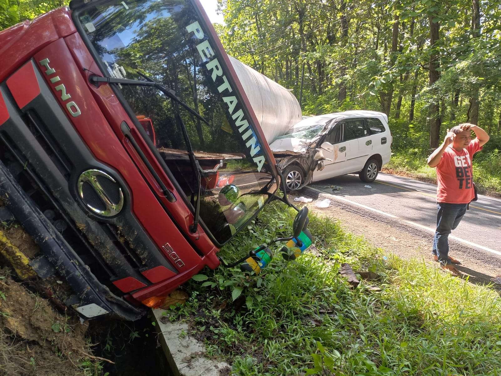
[[[414,150],[396,151],[383,168],[392,173],[436,183],[436,170],[426,164],[427,155]],[[473,158],[473,176],[482,193],[501,195],[501,152],[494,149]]]

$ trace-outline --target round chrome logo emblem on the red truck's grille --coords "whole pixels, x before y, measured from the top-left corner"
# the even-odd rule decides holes
[[[108,175],[106,172],[96,169],[87,170],[84,171],[78,178],[78,194],[80,195],[80,198],[84,201],[84,204],[87,206],[87,208],[89,208],[93,213],[103,217],[116,216],[118,213],[120,213],[120,211],[124,206],[124,195],[122,189],[118,187],[119,200],[118,203],[113,203],[108,194],[106,193],[106,191],[103,189],[103,186],[97,179],[98,176],[103,176],[111,180],[112,182],[116,183],[116,180],[110,175]],[[94,208],[92,205],[85,202],[83,186],[84,183],[86,182],[92,186],[98,197],[101,199],[104,206],[106,207],[105,210]]]

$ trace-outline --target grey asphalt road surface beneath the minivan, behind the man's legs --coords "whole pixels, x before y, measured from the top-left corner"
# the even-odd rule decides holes
[[[379,173],[372,183],[362,182],[358,175],[343,175],[312,183],[310,187],[324,193],[331,185],[342,188],[329,192],[339,201],[405,223],[416,231],[434,232],[437,211],[434,184]],[[451,238],[501,261],[501,200],[479,195]]]

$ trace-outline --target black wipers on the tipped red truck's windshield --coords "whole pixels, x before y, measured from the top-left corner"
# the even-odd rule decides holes
[[[183,102],[182,99],[176,96],[175,92],[173,90],[170,90],[169,88],[163,86],[162,84],[153,81],[151,78],[148,76],[139,73],[138,74],[146,79],[147,81],[139,81],[139,80],[129,80],[126,78],[115,78],[115,77],[101,77],[101,76],[96,76],[92,75],[89,77],[89,81],[94,84],[94,85],[99,85],[100,82],[105,82],[108,84],[121,84],[121,85],[131,85],[131,86],[152,86],[156,87],[158,90],[160,90],[162,93],[164,93],[167,97],[172,99],[175,103],[180,104],[182,107],[184,107],[189,113],[192,115],[196,116],[198,119],[202,120],[205,124],[209,125],[209,122],[205,120],[205,118],[201,115],[198,114],[194,109],[192,109],[188,104]],[[196,176],[196,182],[197,182],[197,194],[196,194],[196,206],[195,206],[195,213],[193,216],[193,225],[190,226],[190,231],[191,233],[196,233],[198,230],[198,223],[200,221],[200,195],[201,195],[201,177],[200,177],[200,171],[199,167],[197,165],[197,162],[195,160],[195,153],[193,151],[193,147],[191,146],[191,142],[188,136],[188,132],[186,130],[186,126],[184,125],[183,120],[181,119],[181,116],[179,115],[179,109],[176,106],[176,115],[175,115],[176,121],[179,124],[181,131],[183,133],[184,141],[186,142],[186,149],[188,151],[188,157],[191,163],[191,167],[193,168],[193,171],[195,172]]]

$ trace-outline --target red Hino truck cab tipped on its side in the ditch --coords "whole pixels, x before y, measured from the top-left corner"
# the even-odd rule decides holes
[[[218,267],[221,246],[279,199],[273,154],[199,0],[73,0],[2,31],[0,55],[0,214],[40,248],[2,253],[20,277],[66,281],[82,318],[141,317]],[[277,241],[304,248],[306,214]]]

